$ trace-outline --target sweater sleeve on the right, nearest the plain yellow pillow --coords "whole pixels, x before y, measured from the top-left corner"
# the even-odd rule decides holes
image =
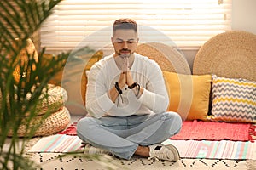
[[[169,105],[169,97],[159,65],[155,64],[150,69],[148,77],[148,83],[138,100],[154,113],[164,112]]]

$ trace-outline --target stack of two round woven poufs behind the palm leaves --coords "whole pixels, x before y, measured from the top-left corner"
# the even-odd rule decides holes
[[[31,99],[31,94],[27,94],[26,99]],[[30,133],[33,130],[35,132],[32,132],[32,136],[46,136],[64,130],[71,120],[69,111],[64,106],[66,102],[67,91],[60,86],[48,84],[38,99],[32,118],[30,112],[22,118],[17,135],[19,137],[31,136]],[[10,131],[8,136],[13,136],[13,132]]]

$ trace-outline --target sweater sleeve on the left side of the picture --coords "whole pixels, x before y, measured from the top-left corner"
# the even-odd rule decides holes
[[[108,89],[104,82],[106,79],[100,70],[100,65],[94,65],[90,69],[86,91],[86,109],[90,116],[96,118],[105,115],[114,105],[113,101],[108,97]]]

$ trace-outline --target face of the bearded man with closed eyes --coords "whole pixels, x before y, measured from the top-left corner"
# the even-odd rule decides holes
[[[113,33],[112,43],[115,55],[130,56],[137,48],[137,32],[134,30],[116,30]]]

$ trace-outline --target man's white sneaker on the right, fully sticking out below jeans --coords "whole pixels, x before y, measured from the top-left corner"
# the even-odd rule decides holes
[[[180,156],[178,150],[172,144],[154,144],[149,146],[149,157],[148,159],[155,159],[157,161],[177,161]]]

